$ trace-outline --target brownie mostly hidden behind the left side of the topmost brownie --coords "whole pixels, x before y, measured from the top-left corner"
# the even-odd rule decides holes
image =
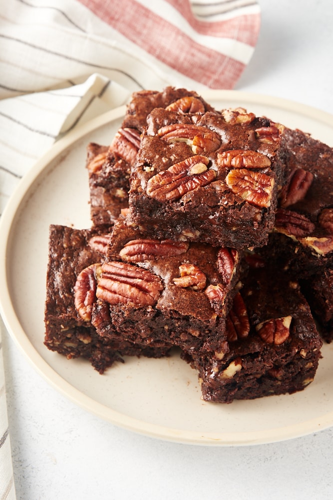
[[[98,151],[97,158],[91,158],[91,153],[97,148],[95,144],[88,146],[87,168],[94,225],[113,223],[122,208],[128,206],[131,166],[135,163],[147,115],[155,107],[170,107],[184,113],[214,111],[200,95],[186,88],[169,86],[161,92],[134,92],[109,147],[102,146],[103,151]]]

